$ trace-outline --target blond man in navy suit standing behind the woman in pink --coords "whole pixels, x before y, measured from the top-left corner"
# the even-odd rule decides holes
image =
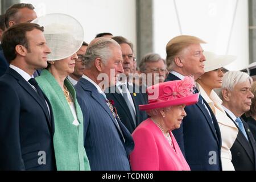
[[[196,80],[204,74],[203,40],[195,36],[181,35],[168,42],[167,68],[170,71],[166,81],[183,80],[193,76]],[[195,90],[195,92],[198,92]],[[203,97],[199,102],[185,107],[180,129],[173,133],[192,170],[221,170],[221,134],[217,120]]]

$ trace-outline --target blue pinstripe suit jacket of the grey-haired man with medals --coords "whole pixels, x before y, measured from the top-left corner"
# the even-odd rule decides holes
[[[133,151],[134,142],[129,131],[117,119],[121,134],[104,97],[91,82],[81,78],[75,89],[84,115],[84,146],[90,168],[105,171],[130,170],[128,156]]]

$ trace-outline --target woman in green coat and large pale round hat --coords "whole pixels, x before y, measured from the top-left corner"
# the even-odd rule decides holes
[[[36,77],[36,81],[52,106],[57,170],[89,170],[82,111],[75,89],[67,79],[74,72],[75,60],[78,59],[76,52],[82,46],[84,32],[79,22],[64,14],[49,14],[35,22],[44,26],[46,43],[51,49],[47,56],[48,67]]]

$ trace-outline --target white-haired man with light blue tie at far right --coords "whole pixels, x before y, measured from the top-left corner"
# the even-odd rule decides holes
[[[235,170],[256,170],[256,146],[254,137],[249,126],[241,115],[250,110],[251,83],[253,79],[240,71],[230,71],[225,73],[222,82],[220,98],[226,114],[236,124],[239,132],[232,148],[232,163]]]

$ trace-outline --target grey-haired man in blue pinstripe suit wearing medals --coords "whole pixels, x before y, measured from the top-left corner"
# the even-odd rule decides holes
[[[121,48],[113,39],[94,39],[83,61],[84,75],[75,88],[84,115],[84,146],[90,168],[130,170],[128,156],[134,148],[133,138],[104,93],[123,72]]]

